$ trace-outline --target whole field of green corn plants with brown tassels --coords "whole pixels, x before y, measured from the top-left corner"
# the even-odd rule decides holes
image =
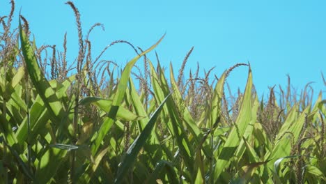
[[[288,77],[258,99],[247,63],[185,76],[193,48],[175,76],[146,55],[164,36],[146,50],[125,40],[104,48],[134,49],[119,69],[92,56],[88,35],[100,24],[84,36],[70,1],[79,52],[69,66],[66,36],[63,52],[37,47],[11,3],[0,17],[0,183],[326,183],[322,91],[313,100],[307,84],[298,99]],[[226,95],[238,67],[248,68],[245,90]]]

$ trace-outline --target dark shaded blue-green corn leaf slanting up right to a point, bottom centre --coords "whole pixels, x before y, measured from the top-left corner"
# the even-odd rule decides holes
[[[125,174],[127,174],[127,171],[129,171],[129,169],[132,169],[132,165],[134,161],[137,159],[137,155],[139,154],[139,151],[146,143],[146,140],[148,139],[149,135],[151,134],[154,128],[157,116],[159,116],[160,111],[162,110],[162,107],[164,105],[164,102],[169,98],[170,95],[171,93],[166,96],[162,104],[157,108],[153,116],[148,121],[146,127],[143,129],[143,132],[141,132],[139,137],[137,137],[137,139],[134,140],[130,148],[128,148],[125,158],[123,159],[123,162],[121,162],[121,166],[118,168],[118,175],[114,183],[122,183]]]

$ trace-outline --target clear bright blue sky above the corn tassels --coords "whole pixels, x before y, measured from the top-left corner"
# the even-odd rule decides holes
[[[195,70],[216,66],[221,75],[235,63],[251,63],[254,84],[259,95],[268,86],[285,86],[290,75],[295,89],[308,82],[316,91],[324,91],[321,72],[326,77],[326,1],[74,1],[81,13],[84,34],[96,22],[105,31],[91,34],[93,57],[114,40],[127,40],[146,49],[164,33],[166,37],[155,49],[162,66],[173,62],[174,71],[189,49],[194,52],[187,63]],[[0,1],[0,15],[10,11],[8,0]],[[16,1],[17,13],[29,21],[38,45],[61,47],[68,33],[68,59],[77,56],[75,17],[65,1]],[[62,49],[61,49],[62,50]],[[153,52],[154,53],[154,52]],[[127,45],[109,49],[104,59],[124,65],[135,54]],[[156,61],[153,54],[149,55]],[[247,68],[234,70],[228,82],[235,90],[244,89]]]

